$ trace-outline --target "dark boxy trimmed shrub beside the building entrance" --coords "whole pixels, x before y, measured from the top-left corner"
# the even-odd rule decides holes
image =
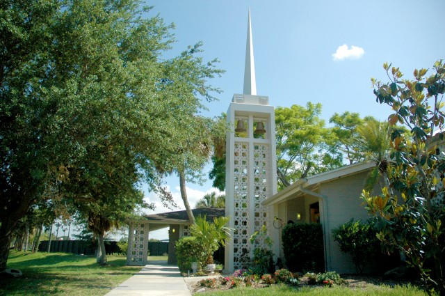
[[[325,269],[321,224],[287,224],[282,241],[286,265],[291,272]]]

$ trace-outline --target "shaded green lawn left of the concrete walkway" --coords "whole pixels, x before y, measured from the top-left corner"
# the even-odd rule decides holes
[[[8,268],[22,270],[17,279],[0,279],[0,295],[105,295],[142,267],[126,266],[125,256],[107,256],[99,266],[92,256],[66,253],[24,254],[11,251]],[[150,256],[149,260],[167,260]]]

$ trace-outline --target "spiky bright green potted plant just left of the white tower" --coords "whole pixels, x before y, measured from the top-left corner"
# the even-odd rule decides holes
[[[191,233],[202,245],[205,253],[204,264],[211,272],[215,270],[216,265],[213,263],[213,253],[218,250],[220,245],[224,245],[225,241],[230,237],[230,228],[225,224],[229,221],[227,217],[214,217],[213,223],[207,221],[206,216],[198,216],[196,224],[191,227]]]

